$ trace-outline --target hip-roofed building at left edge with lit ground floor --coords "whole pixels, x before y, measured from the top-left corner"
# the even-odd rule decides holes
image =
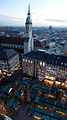
[[[19,55],[13,49],[0,50],[0,71],[4,75],[11,75],[18,69]]]

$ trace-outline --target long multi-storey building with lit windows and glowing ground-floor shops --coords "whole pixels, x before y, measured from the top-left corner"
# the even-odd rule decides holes
[[[57,87],[62,84],[67,88],[67,57],[32,51],[24,55],[23,73],[34,76],[45,84]]]

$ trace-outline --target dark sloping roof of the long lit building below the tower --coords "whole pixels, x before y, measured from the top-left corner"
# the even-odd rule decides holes
[[[24,58],[46,62],[56,66],[67,67],[67,56],[55,55],[46,53],[44,51],[31,51],[25,55]]]

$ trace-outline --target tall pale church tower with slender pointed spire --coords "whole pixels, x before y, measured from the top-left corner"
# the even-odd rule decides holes
[[[30,4],[28,6],[28,14],[26,18],[26,32],[24,37],[24,54],[33,50],[33,37],[32,37],[32,20],[30,14]]]

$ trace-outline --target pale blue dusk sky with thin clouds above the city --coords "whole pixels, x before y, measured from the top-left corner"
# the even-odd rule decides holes
[[[29,3],[33,26],[67,26],[67,0],[0,0],[0,25],[23,26]]]

